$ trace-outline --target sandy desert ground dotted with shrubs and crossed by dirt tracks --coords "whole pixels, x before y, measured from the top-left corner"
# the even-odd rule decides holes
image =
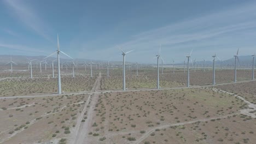
[[[256,81],[250,70],[63,67],[57,73],[25,67],[0,72],[0,143],[254,143]],[[18,70],[20,69],[20,70]],[[186,71],[187,72],[187,71]]]

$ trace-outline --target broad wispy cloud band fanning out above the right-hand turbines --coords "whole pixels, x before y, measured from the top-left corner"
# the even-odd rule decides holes
[[[170,59],[171,55],[177,59],[176,61],[183,61],[183,56],[191,49],[195,50],[194,56],[199,58],[205,57],[206,53],[211,58],[211,53],[214,52],[225,53],[222,57],[230,57],[231,54],[228,55],[232,52],[230,50],[242,46],[242,49],[249,55],[252,48],[247,42],[251,41],[252,44],[248,35],[254,37],[256,33],[255,13],[256,3],[239,5],[217,13],[194,17],[138,33],[132,35],[130,41],[119,45],[136,49],[137,52],[131,56],[133,61],[146,59],[144,62],[151,57],[141,55],[141,53],[150,51],[153,56],[158,51],[160,43],[164,57]],[[97,50],[95,51],[97,52]],[[86,55],[91,56],[95,51],[86,52]],[[104,52],[117,53],[117,48],[109,47]]]

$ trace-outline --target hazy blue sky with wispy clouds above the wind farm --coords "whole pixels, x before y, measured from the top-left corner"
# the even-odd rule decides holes
[[[0,55],[48,56],[165,63],[212,60],[256,52],[255,1],[2,0]],[[67,58],[66,56],[61,56]]]

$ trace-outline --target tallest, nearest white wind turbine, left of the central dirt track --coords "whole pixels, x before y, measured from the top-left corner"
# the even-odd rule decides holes
[[[57,53],[57,63],[58,63],[58,94],[61,94],[61,75],[60,75],[60,52],[63,53],[64,55],[68,56],[66,53],[60,51],[60,43],[59,43],[59,34],[57,34],[57,51],[54,53],[51,53],[50,56],[53,56],[55,53]],[[45,57],[44,59],[48,58]],[[69,58],[73,59],[72,57],[68,56]],[[45,61],[46,62],[46,61]]]

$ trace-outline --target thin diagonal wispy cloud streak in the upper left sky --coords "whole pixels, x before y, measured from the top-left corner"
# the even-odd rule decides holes
[[[46,24],[46,22],[40,19],[34,9],[28,7],[28,5],[23,2],[24,1],[4,0],[7,8],[10,9],[10,13],[18,17],[20,21],[22,21],[27,27],[31,28],[34,32],[51,41],[47,33],[51,28]]]

